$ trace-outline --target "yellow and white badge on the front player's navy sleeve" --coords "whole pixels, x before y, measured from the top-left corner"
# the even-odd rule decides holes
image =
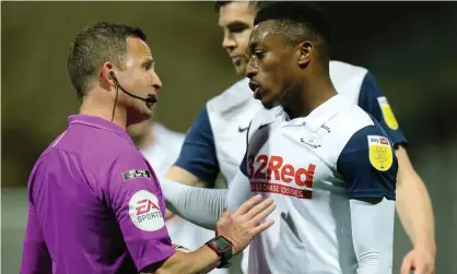
[[[374,168],[386,171],[394,162],[389,140],[384,136],[368,135],[370,163]]]

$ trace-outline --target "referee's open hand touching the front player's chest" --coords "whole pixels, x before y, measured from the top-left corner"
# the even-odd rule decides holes
[[[243,251],[256,235],[273,225],[272,219],[262,221],[274,211],[276,204],[272,199],[261,200],[260,195],[253,196],[233,215],[226,209],[218,221],[215,234],[232,242],[233,254]]]

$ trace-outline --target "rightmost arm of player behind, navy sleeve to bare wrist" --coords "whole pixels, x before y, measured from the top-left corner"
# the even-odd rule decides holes
[[[405,147],[407,139],[370,72],[363,80],[359,105],[380,123],[396,147],[399,164],[396,205],[398,215],[414,248],[424,250],[434,258],[435,229],[429,192],[408,157]]]

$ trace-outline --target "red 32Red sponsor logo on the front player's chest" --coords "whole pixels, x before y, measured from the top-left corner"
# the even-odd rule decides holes
[[[300,199],[312,199],[312,188],[316,165],[307,168],[294,167],[281,156],[250,155],[248,157],[248,178],[250,189],[256,192],[271,192]],[[283,183],[274,183],[283,182]]]

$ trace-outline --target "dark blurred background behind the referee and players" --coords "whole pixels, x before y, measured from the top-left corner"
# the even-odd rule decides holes
[[[437,274],[457,273],[457,2],[325,2],[338,60],[371,70],[431,193]],[[185,132],[238,78],[213,2],[1,2],[1,270],[19,273],[32,166],[78,111],[67,75],[73,36],[97,21],[140,26],[164,87],[156,120]],[[395,273],[410,242],[397,219]]]

